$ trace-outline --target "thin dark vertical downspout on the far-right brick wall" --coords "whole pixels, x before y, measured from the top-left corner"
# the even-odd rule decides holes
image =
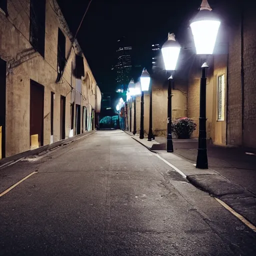
[[[243,3],[241,2],[241,111],[242,111],[242,142],[243,145],[243,130],[244,130],[244,59],[243,59],[243,46],[244,46],[244,38],[243,38]]]

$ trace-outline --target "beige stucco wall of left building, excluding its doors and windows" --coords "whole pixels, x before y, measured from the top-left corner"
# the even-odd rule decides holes
[[[44,86],[43,144],[50,143],[51,91],[55,93],[53,140],[57,141],[60,138],[60,95],[66,97],[65,137],[69,135],[71,86],[75,84],[75,78],[71,73],[71,62],[74,62],[75,52],[71,50],[63,76],[59,83],[55,83],[58,27],[66,37],[66,57],[71,42],[66,34],[66,28],[62,28],[57,14],[52,9],[52,6],[56,6],[56,2],[54,1],[53,4],[53,1],[46,0],[44,58],[29,43],[29,0],[7,1],[8,17],[0,12],[0,56],[7,62],[6,156],[30,148],[30,79]],[[84,66],[85,73],[91,72],[85,58]],[[89,109],[95,108],[96,82],[92,73],[91,80],[91,91],[87,92],[87,84],[82,85],[82,105],[86,105]]]

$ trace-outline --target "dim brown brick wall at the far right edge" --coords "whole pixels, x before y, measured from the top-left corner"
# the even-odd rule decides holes
[[[227,143],[255,148],[256,4],[241,3],[229,28]]]

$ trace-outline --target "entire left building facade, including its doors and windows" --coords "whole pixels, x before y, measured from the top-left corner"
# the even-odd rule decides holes
[[[1,157],[94,129],[100,90],[56,0],[1,1],[0,37]]]

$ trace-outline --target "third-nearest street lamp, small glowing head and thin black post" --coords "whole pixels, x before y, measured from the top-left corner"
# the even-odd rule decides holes
[[[149,73],[144,68],[140,75],[141,102],[140,102],[140,131],[139,138],[144,138],[144,91],[148,90],[150,83]]]

